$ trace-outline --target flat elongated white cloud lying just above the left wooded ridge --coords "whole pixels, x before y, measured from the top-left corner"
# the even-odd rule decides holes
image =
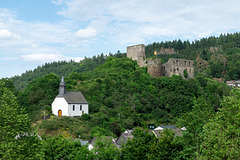
[[[20,58],[24,61],[39,62],[39,63],[62,61],[62,60],[66,60],[66,61],[73,60],[73,61],[79,62],[80,60],[84,59],[82,57],[68,57],[62,54],[26,54],[26,55],[21,55]]]

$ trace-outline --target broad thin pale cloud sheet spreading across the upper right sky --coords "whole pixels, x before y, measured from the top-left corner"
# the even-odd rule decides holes
[[[111,33],[119,41],[128,41],[129,36],[131,39],[193,37],[194,40],[240,26],[238,0],[72,0],[65,4],[66,8],[59,12],[65,17],[89,24],[108,19],[101,35],[107,37]],[[103,28],[99,25],[95,29],[100,27]]]

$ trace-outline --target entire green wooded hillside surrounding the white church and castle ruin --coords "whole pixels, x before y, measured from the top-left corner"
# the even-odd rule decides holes
[[[1,147],[9,141],[9,148],[17,146],[23,151],[17,154],[36,152],[39,156],[48,156],[51,148],[59,155],[66,154],[66,159],[71,159],[69,155],[87,155],[94,159],[96,152],[105,154],[105,158],[114,155],[115,158],[109,159],[158,159],[159,154],[162,159],[169,156],[171,159],[211,159],[211,155],[217,155],[219,159],[236,159],[240,91],[231,91],[224,81],[240,79],[239,40],[239,33],[235,33],[192,43],[178,40],[146,46],[147,57],[154,57],[153,52],[162,47],[174,48],[177,54],[158,55],[163,62],[169,58],[194,60],[195,79],[189,80],[177,75],[152,78],[146,67],[140,68],[136,61],[120,52],[85,58],[80,63],[48,63],[22,76],[1,79],[0,119],[4,122],[0,126],[0,134],[4,135]],[[58,94],[63,73],[67,90],[81,91],[89,102],[89,114],[75,118],[51,114],[51,103]],[[15,118],[17,116],[19,120]],[[144,130],[152,123],[185,126],[187,131],[183,137],[175,137],[174,133],[166,131],[158,140]],[[7,130],[6,126],[11,125],[16,129]],[[117,138],[132,128],[137,128],[135,137],[122,150],[100,141],[100,147],[91,152],[72,141],[79,136],[85,140],[104,136]],[[16,133],[30,130],[43,140],[23,138],[22,143],[14,140]],[[38,147],[33,149],[29,147],[31,145]],[[213,151],[214,145],[219,151]],[[78,151],[73,149],[74,146],[79,148]],[[0,159],[3,151],[9,150],[0,150]]]

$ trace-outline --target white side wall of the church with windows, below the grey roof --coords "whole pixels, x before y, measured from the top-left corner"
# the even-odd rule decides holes
[[[74,110],[73,110],[73,105]],[[80,105],[82,105],[82,110],[80,110]],[[68,104],[68,116],[81,116],[82,111],[84,111],[84,114],[88,114],[88,104]]]

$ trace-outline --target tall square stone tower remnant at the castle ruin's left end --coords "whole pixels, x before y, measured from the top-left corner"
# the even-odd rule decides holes
[[[140,67],[146,66],[145,45],[138,44],[127,47],[127,57],[136,60]]]

